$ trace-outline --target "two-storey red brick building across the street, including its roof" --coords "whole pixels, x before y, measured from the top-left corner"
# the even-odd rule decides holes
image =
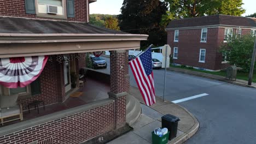
[[[172,47],[173,63],[203,70],[228,66],[218,52],[228,37],[256,33],[256,19],[229,15],[211,15],[172,20],[166,27],[167,44]]]

